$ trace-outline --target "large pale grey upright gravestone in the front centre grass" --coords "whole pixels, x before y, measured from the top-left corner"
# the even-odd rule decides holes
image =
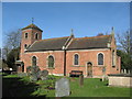
[[[65,97],[69,96],[69,79],[61,78],[55,82],[55,96]]]

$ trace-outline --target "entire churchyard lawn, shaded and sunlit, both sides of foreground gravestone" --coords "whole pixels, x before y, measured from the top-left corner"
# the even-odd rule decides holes
[[[55,77],[59,79],[61,77]],[[68,78],[68,77],[67,77]],[[18,75],[3,76],[3,97],[55,97],[54,89],[46,89],[54,80],[38,80],[31,82],[29,77]],[[84,86],[79,86],[78,78],[70,80],[69,97],[130,97],[130,88],[109,87],[108,81],[99,78],[85,78]]]

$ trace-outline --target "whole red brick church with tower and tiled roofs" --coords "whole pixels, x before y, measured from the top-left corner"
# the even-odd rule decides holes
[[[120,74],[121,58],[117,55],[113,29],[109,35],[91,37],[69,36],[42,40],[42,30],[35,24],[22,29],[18,72],[26,73],[36,65],[56,76],[69,76],[72,70],[85,77]]]

